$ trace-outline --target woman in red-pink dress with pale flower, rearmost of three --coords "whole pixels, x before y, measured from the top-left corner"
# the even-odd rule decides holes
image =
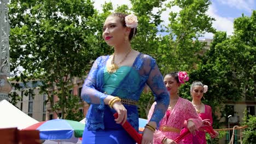
[[[212,129],[212,108],[211,106],[205,105],[201,102],[203,93],[206,93],[207,90],[208,87],[206,85],[203,85],[200,81],[193,82],[190,87],[190,94],[192,96],[191,103],[194,105],[196,112],[203,119],[203,121],[210,122],[210,125],[207,126],[208,129],[206,129],[206,125],[201,125],[199,131],[196,131],[196,135],[189,134],[188,136],[186,136],[185,139],[183,139],[183,142],[185,144],[206,144],[205,131],[210,133],[212,138],[218,136],[218,132],[213,131]]]

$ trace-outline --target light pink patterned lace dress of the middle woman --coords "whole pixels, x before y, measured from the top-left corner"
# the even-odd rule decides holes
[[[149,110],[148,119],[152,116],[155,107],[154,103]],[[202,119],[197,115],[194,106],[187,99],[179,98],[173,109],[167,110],[165,116],[159,123],[159,129],[154,133],[154,144],[159,144],[167,137],[168,139],[176,139],[184,126],[184,121],[191,119],[197,128],[202,124]],[[179,144],[183,143],[182,141]]]

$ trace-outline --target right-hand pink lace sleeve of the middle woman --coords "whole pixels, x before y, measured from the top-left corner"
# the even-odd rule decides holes
[[[202,124],[202,118],[197,114],[195,107],[189,102],[187,105],[187,115],[185,115],[185,119],[192,120],[196,125],[196,128],[200,128]]]

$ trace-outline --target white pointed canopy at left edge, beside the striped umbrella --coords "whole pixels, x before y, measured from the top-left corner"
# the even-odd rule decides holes
[[[9,101],[0,101],[0,128],[24,129],[35,123],[38,123],[36,119],[26,115]]]

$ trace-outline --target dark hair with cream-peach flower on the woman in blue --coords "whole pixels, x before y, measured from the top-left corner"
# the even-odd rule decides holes
[[[138,26],[137,16],[135,16],[134,14],[127,15],[124,13],[113,13],[113,14],[110,14],[109,16],[119,17],[124,27],[131,28],[131,32],[129,34],[129,40],[135,37],[135,35],[137,34],[137,26]]]

